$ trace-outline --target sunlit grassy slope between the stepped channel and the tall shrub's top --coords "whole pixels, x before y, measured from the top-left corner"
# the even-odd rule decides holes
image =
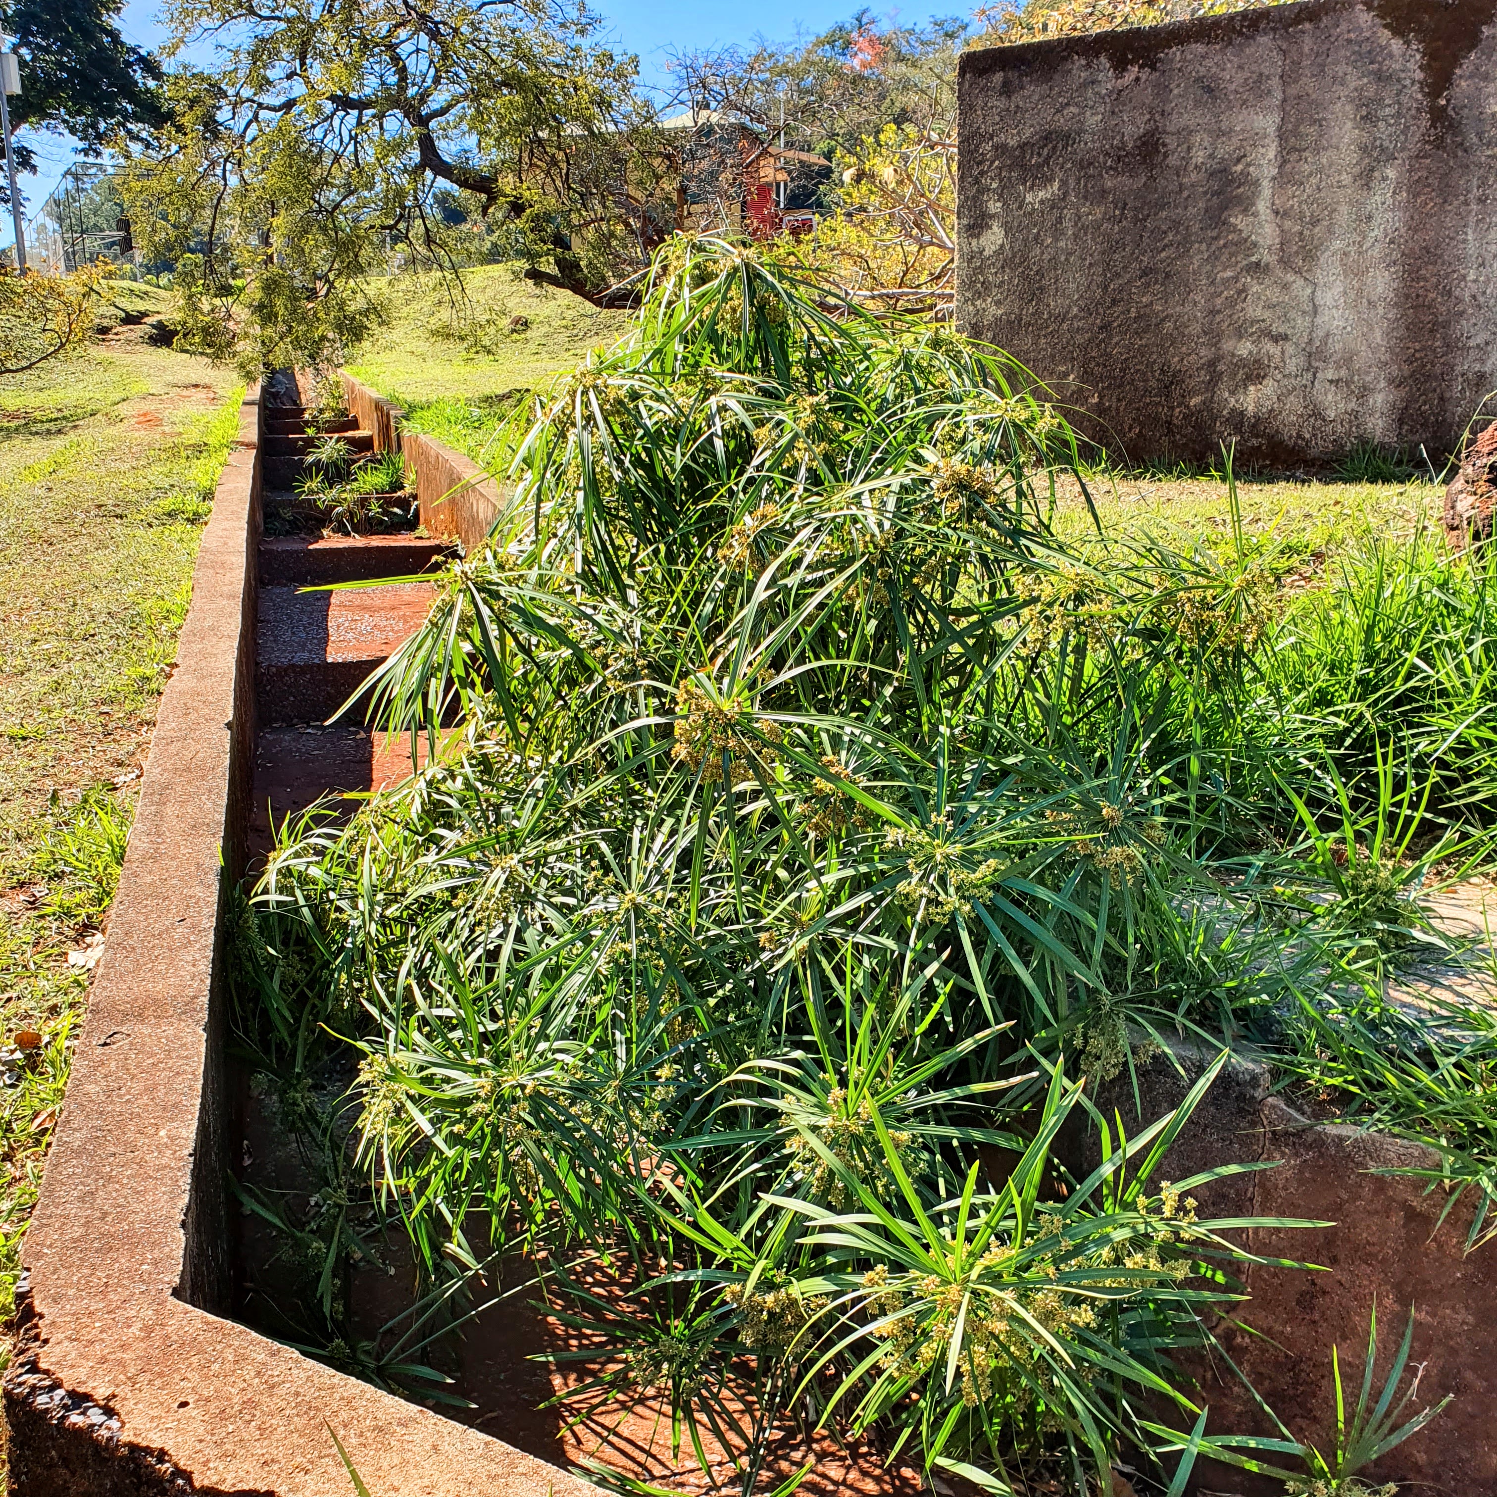
[[[463,274],[463,296],[434,275],[391,280],[391,317],[347,368],[406,407],[407,425],[476,461],[525,392],[629,328],[629,313],[522,280],[507,265]]]

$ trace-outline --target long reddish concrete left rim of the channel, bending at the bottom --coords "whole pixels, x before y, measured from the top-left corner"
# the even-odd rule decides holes
[[[254,756],[259,389],[241,406],[24,1247],[24,1497],[581,1497],[563,1470],[220,1319],[225,903]]]

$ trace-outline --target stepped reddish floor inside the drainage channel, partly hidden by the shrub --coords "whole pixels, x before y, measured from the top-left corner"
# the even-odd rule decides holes
[[[251,871],[289,814],[341,795],[346,799],[325,804],[329,820],[347,819],[361,792],[412,772],[409,738],[386,740],[356,720],[328,725],[326,719],[419,627],[433,585],[307,588],[409,576],[443,554],[440,542],[412,533],[356,539],[310,533],[311,516],[295,485],[313,439],[299,395],[284,377],[269,386],[263,415],[268,534],[259,545]],[[355,451],[371,449],[371,434],[352,419],[335,430]],[[504,1298],[466,1322],[458,1335],[433,1334],[445,1316],[421,1299],[404,1234],[398,1225],[380,1229],[362,1204],[367,1174],[355,1162],[346,1103],[355,1079],[349,1046],[295,1076],[240,1069],[234,1087],[238,1210],[231,1207],[235,1319],[499,1436],[548,1463],[555,1491],[570,1490],[566,1467],[597,1460],[600,1452],[626,1478],[669,1479],[684,1493],[728,1481],[734,1460],[711,1439],[704,1446],[716,1473],[711,1481],[693,1470],[690,1457],[677,1461],[668,1442],[662,1443],[669,1410],[654,1395],[627,1412],[555,1406],[557,1394],[578,1379],[566,1361],[552,1368],[551,1358],[567,1358],[594,1341],[536,1302],[533,1262],[516,1257],[494,1268],[487,1287],[506,1290]],[[346,1251],[350,1238],[359,1243],[352,1254]],[[630,1292],[612,1272],[584,1271],[584,1280],[602,1302]],[[409,1364],[430,1371],[412,1374],[403,1370]],[[748,1418],[750,1410],[741,1412]],[[796,1439],[787,1433],[786,1451],[775,1452],[784,1473],[802,1458],[795,1454]],[[886,1473],[871,1446],[837,1451],[822,1440],[816,1458],[819,1493],[906,1497],[915,1491],[909,1473]]]

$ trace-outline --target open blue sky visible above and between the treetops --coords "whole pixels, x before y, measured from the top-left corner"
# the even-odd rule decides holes
[[[751,4],[732,0],[593,0],[606,22],[609,40],[623,51],[639,54],[641,81],[653,87],[669,84],[666,63],[672,52],[748,42],[754,36],[772,40],[793,40],[814,36],[837,21],[847,19],[858,0],[753,0]],[[934,6],[916,3],[910,9],[885,10],[889,21],[918,24],[928,15],[951,15],[960,4]],[[160,0],[127,0],[120,16],[120,28],[138,46],[153,48],[165,40],[157,24]],[[24,85],[24,79],[22,79]],[[28,132],[27,142],[37,154],[37,175],[21,180],[21,195],[27,211],[34,214],[57,180],[73,159],[72,141],[40,132]],[[10,216],[0,216],[0,247],[13,243]]]

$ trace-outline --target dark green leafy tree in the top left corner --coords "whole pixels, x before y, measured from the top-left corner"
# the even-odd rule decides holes
[[[61,130],[97,150],[115,133],[136,141],[165,124],[162,69],[120,34],[123,0],[12,0],[4,28],[15,36],[22,91],[10,123]],[[36,169],[16,144],[16,165]]]

